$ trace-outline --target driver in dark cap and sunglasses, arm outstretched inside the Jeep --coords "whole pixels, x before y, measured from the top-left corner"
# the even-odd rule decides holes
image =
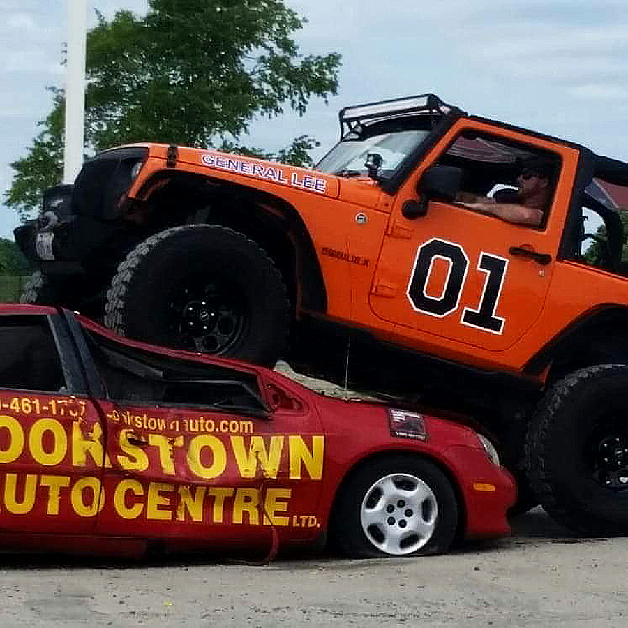
[[[456,201],[509,223],[540,227],[552,200],[552,174],[553,165],[549,160],[530,157],[521,162],[516,190],[501,190],[492,198],[458,192]]]

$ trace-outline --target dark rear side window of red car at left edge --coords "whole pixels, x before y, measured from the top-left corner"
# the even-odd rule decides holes
[[[0,316],[0,387],[66,389],[59,352],[46,316]]]

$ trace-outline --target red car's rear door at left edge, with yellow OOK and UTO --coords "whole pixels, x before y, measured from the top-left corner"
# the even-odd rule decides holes
[[[0,529],[90,534],[103,506],[103,426],[52,308],[0,313]]]

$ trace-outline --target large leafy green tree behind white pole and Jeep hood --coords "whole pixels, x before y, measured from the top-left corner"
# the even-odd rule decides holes
[[[297,137],[278,154],[241,146],[251,121],[336,94],[340,55],[299,54],[306,20],[283,0],[149,0],[137,17],[119,11],[87,34],[87,153],[157,141],[239,149],[308,164],[315,140]],[[6,204],[22,214],[61,178],[63,94],[27,156],[12,164]]]

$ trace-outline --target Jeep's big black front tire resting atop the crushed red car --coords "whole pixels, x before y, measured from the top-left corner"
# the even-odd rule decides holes
[[[216,225],[172,227],[137,245],[105,303],[105,325],[124,336],[265,365],[281,354],[289,320],[272,260]]]

